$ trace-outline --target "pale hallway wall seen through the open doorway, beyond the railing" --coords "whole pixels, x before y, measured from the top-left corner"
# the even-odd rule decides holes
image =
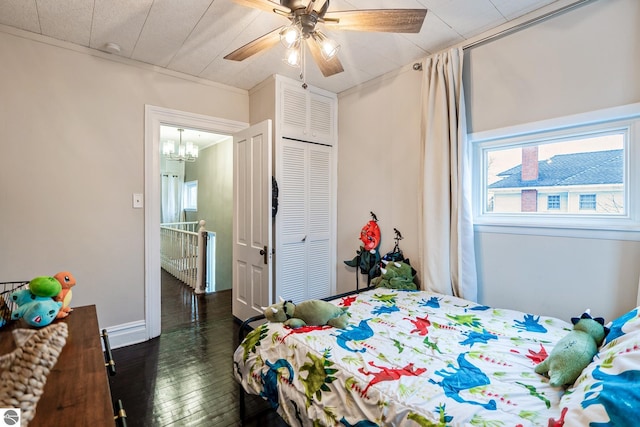
[[[233,141],[220,142],[200,152],[187,164],[185,181],[198,180],[198,211],[187,221],[206,221],[216,233],[216,291],[231,289],[233,254]]]

